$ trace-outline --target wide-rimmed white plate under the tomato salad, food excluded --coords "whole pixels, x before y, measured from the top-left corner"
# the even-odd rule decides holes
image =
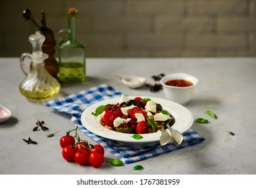
[[[129,96],[129,97],[131,99],[134,98],[134,96]],[[172,101],[168,101],[166,99],[156,98],[156,97],[141,97],[141,98],[150,98],[152,99],[152,101],[155,101],[156,103],[159,103],[160,105],[162,105],[162,108],[168,111],[175,119],[175,123],[172,126],[172,128],[178,130],[181,133],[191,128],[193,124],[193,115],[187,108],[183,107],[183,105],[174,103]],[[85,109],[81,115],[81,121],[84,127],[90,130],[90,132],[93,132],[98,136],[102,136],[103,138],[108,138],[110,140],[119,142],[119,144],[133,145],[133,146],[151,146],[153,144],[156,144],[156,142],[159,142],[160,136],[161,136],[160,131],[151,133],[151,134],[141,134],[143,138],[140,140],[136,140],[132,138],[133,134],[116,132],[116,131],[108,130],[107,128],[104,128],[104,126],[102,126],[96,120],[96,117],[92,115],[92,112],[94,112],[98,106],[106,105],[106,104],[116,104],[116,103],[119,103],[119,99],[120,97],[99,101],[98,103],[94,103],[93,105]]]

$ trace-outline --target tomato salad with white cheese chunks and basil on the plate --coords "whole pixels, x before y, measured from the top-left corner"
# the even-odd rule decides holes
[[[172,118],[162,105],[150,98],[131,99],[125,95],[121,95],[119,103],[98,106],[92,115],[102,126],[127,134],[157,132]]]

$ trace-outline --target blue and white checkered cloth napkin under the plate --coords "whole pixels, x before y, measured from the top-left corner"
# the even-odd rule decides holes
[[[48,101],[44,104],[47,107],[51,107],[57,111],[71,114],[71,122],[73,122],[75,126],[78,126],[79,130],[81,130],[87,136],[90,136],[90,138],[94,139],[96,142],[98,142],[98,144],[104,146],[106,150],[108,150],[110,153],[115,155],[126,164],[172,152],[174,150],[179,150],[181,148],[186,148],[188,146],[193,146],[205,140],[205,138],[199,136],[197,132],[189,129],[183,134],[183,143],[179,147],[169,143],[165,146],[160,146],[160,144],[157,144],[156,146],[135,148],[133,146],[123,146],[106,138],[97,136],[96,134],[86,130],[80,120],[84,109],[98,101],[119,97],[121,95],[122,93],[115,90],[113,87],[103,84],[98,85],[97,87],[79,91],[78,93],[68,95],[66,97]]]

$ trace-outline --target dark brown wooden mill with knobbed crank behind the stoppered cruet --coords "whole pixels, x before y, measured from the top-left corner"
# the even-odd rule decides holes
[[[31,11],[29,9],[24,9],[22,15],[26,20],[30,19],[34,26],[38,28],[36,34],[42,34],[45,36],[44,43],[42,44],[42,52],[48,54],[49,57],[44,60],[44,66],[53,77],[57,78],[59,73],[59,63],[55,58],[56,41],[53,31],[46,26],[46,17],[44,11],[41,11],[41,26],[39,26],[38,23],[36,23],[36,21],[31,17]]]

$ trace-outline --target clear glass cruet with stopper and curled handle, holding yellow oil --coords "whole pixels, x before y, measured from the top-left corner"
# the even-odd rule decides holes
[[[44,60],[49,57],[42,52],[42,43],[45,37],[42,34],[32,34],[28,39],[32,44],[33,52],[20,56],[20,65],[26,75],[26,79],[20,83],[20,92],[30,101],[48,101],[59,93],[61,86],[44,67]],[[32,60],[32,68],[29,73],[26,72],[26,58]]]

